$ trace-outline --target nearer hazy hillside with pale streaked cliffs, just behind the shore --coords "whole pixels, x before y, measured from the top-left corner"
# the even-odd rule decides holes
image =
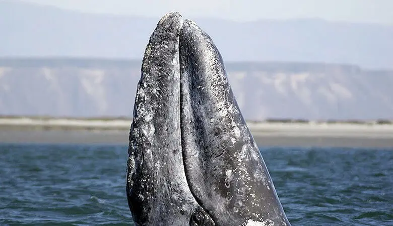
[[[0,115],[130,117],[141,61],[0,59]],[[247,120],[393,119],[393,71],[312,63],[226,63]]]

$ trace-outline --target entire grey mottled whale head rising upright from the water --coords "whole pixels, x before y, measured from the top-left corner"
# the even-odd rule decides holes
[[[136,225],[290,225],[218,48],[178,12],[146,46],[126,165]]]

